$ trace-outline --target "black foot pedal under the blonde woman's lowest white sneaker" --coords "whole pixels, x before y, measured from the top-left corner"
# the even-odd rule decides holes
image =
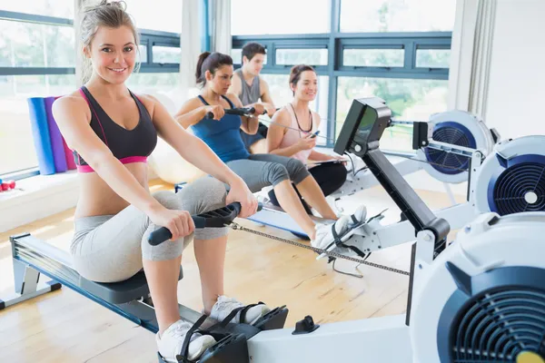
[[[218,338],[212,334],[214,338]],[[157,352],[159,363],[166,363],[161,353]],[[248,343],[242,334],[228,335],[219,340],[213,347],[206,349],[198,360],[189,360],[178,356],[178,363],[247,363],[250,362],[248,355]]]

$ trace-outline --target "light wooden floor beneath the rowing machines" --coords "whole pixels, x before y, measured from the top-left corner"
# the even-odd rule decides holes
[[[172,189],[152,183],[152,190]],[[432,209],[449,205],[445,194],[421,192]],[[399,210],[381,188],[358,195],[369,214],[390,208],[386,221],[397,221]],[[0,298],[13,293],[9,236],[31,232],[36,238],[68,249],[73,233],[74,210],[0,233]],[[239,223],[270,234],[294,239],[287,232],[258,227],[251,221]],[[380,253],[369,260],[409,270],[410,245]],[[286,327],[306,315],[319,323],[365,319],[400,314],[407,300],[406,276],[360,266],[364,278],[356,279],[332,271],[325,259],[275,240],[242,231],[231,231],[225,263],[226,293],[243,302],[262,300],[275,307],[287,305]],[[337,268],[353,271],[354,265]],[[183,256],[184,278],[178,288],[180,303],[200,311],[201,288],[191,246]],[[0,311],[0,362],[156,362],[154,335],[70,289]]]

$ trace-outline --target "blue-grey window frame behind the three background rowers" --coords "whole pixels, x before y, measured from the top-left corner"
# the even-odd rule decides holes
[[[240,49],[247,42],[257,42],[267,48],[267,64],[263,74],[287,74],[293,64],[276,64],[277,49],[328,49],[328,64],[310,64],[320,75],[329,76],[327,147],[332,147],[337,113],[337,86],[339,77],[372,77],[448,80],[449,68],[416,67],[418,49],[451,49],[452,32],[389,32],[389,33],[342,33],[341,1],[330,0],[331,29],[329,34],[256,34],[233,35],[233,49]],[[344,49],[404,49],[402,67],[347,66],[343,64]],[[242,64],[234,64],[238,69]],[[325,90],[324,90],[325,91]],[[332,121],[331,121],[332,120]]]

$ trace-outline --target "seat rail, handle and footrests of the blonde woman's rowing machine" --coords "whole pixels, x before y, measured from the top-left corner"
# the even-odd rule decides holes
[[[218,228],[229,225],[239,214],[240,208],[240,204],[235,202],[221,209],[193,216],[195,228]],[[150,234],[149,242],[156,245],[171,237],[170,231],[160,228]],[[0,300],[0,309],[5,309],[27,299],[33,299],[49,291],[61,289],[61,286],[64,285],[144,329],[153,333],[158,331],[154,302],[144,271],[121,282],[94,282],[84,279],[74,270],[72,258],[67,251],[59,250],[44,240],[35,239],[28,233],[13,236],[10,240],[14,264],[15,296]],[[52,280],[45,283],[42,281],[38,284],[40,274],[44,274]],[[183,270],[180,267],[179,279],[182,280],[182,278]],[[220,322],[213,319],[206,317],[204,319],[202,314],[183,305],[179,305],[179,310],[180,318],[191,324],[198,322],[202,329],[215,327],[212,334],[218,343],[203,355],[200,362],[247,361],[247,339],[262,330],[282,328],[288,314],[288,309],[281,307],[272,309],[253,326],[230,322],[221,325]]]

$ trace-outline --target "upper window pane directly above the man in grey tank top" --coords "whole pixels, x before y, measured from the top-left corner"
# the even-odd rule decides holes
[[[231,34],[329,33],[330,14],[330,0],[232,0]]]

